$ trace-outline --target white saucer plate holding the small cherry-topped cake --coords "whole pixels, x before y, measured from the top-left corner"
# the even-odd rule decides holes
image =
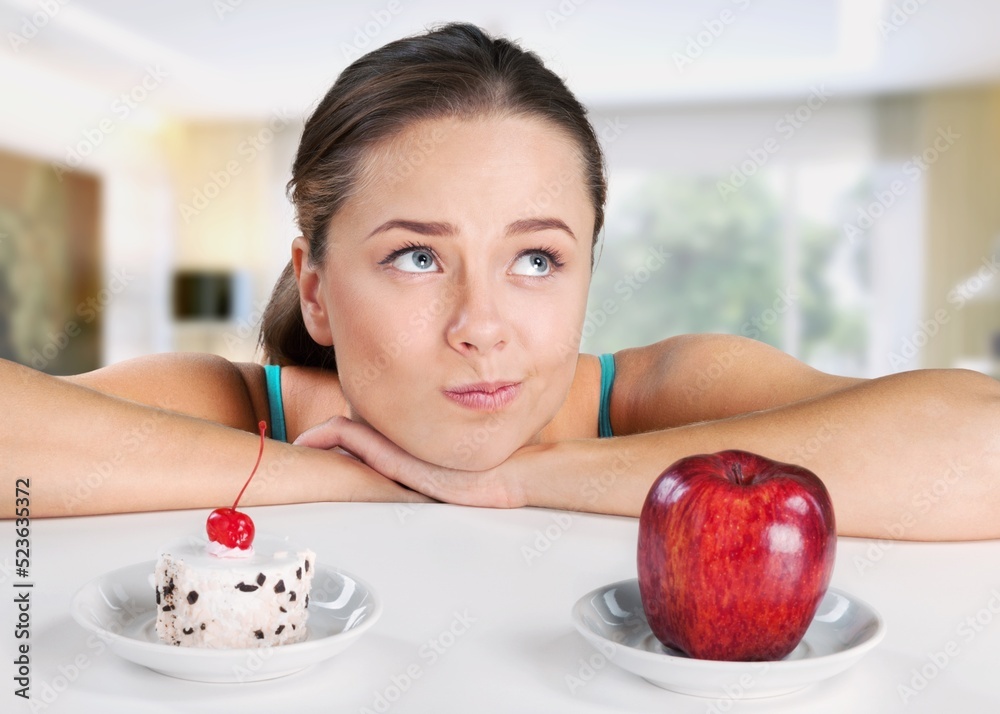
[[[119,657],[156,672],[198,682],[253,682],[283,677],[343,651],[382,614],[381,600],[360,578],[316,565],[308,636],[278,647],[207,649],[168,645],[156,635],[156,597],[148,561],[90,581],[73,597],[71,614]]]

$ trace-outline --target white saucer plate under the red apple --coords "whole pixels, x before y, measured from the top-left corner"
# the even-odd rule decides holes
[[[833,677],[856,664],[885,636],[885,621],[867,603],[827,590],[799,645],[778,662],[692,659],[667,648],[649,629],[638,580],[587,593],[573,624],[608,661],[682,694],[710,698],[773,697]]]

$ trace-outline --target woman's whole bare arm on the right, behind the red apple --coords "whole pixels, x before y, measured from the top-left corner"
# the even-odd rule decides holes
[[[709,370],[734,348],[740,354],[728,367]],[[676,459],[737,448],[813,470],[830,490],[841,534],[1000,537],[995,380],[963,370],[844,379],[739,338],[652,346],[646,357],[645,373],[622,360],[612,421],[617,410],[616,426],[631,432],[643,431],[641,419],[662,425],[525,447],[511,459],[522,467],[515,483],[523,502],[635,516]],[[529,465],[549,477],[529,478]]]

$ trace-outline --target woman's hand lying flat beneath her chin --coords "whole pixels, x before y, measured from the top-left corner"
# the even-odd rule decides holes
[[[438,501],[490,508],[526,505],[509,459],[488,471],[435,466],[404,451],[370,426],[341,416],[304,431],[294,443],[317,449],[339,448],[383,476]]]

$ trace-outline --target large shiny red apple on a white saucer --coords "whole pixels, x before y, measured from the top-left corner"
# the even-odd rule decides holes
[[[830,584],[833,504],[801,466],[745,451],[689,456],[646,496],[638,551],[660,642],[698,659],[779,660]]]

